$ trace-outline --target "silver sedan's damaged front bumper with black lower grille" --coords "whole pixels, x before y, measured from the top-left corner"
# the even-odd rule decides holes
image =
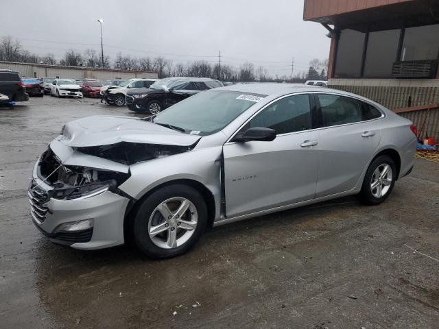
[[[102,249],[122,245],[123,219],[129,199],[110,191],[78,199],[47,198],[54,189],[38,177],[38,162],[32,173],[28,197],[34,225],[54,243],[75,249]],[[64,231],[62,225],[93,219],[87,230]]]

